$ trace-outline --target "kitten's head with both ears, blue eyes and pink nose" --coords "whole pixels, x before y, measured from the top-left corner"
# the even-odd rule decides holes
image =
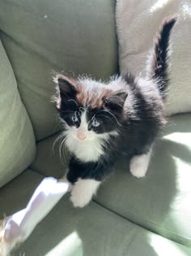
[[[66,135],[78,141],[117,135],[127,93],[93,80],[74,81],[66,76],[58,76],[57,84],[57,110]]]

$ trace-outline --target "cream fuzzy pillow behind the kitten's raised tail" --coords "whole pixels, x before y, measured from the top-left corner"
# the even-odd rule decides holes
[[[145,72],[147,56],[163,18],[179,14],[172,31],[166,115],[191,111],[190,0],[117,0],[116,20],[122,74]]]

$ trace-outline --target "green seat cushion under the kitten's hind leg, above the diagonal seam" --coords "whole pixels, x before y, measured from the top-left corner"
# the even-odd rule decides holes
[[[61,177],[66,161],[59,157],[58,134],[37,144],[32,168]],[[53,149],[54,148],[54,153]],[[101,185],[96,202],[152,232],[191,247],[191,114],[175,115],[156,144],[146,177],[134,178],[125,157]]]

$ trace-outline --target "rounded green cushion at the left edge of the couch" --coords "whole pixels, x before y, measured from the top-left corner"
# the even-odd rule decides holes
[[[35,137],[0,41],[0,187],[32,163]]]

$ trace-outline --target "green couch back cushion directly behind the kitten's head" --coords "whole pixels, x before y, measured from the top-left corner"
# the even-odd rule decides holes
[[[117,72],[114,6],[114,0],[1,1],[2,41],[37,140],[59,129],[49,102],[53,71],[99,79]]]

